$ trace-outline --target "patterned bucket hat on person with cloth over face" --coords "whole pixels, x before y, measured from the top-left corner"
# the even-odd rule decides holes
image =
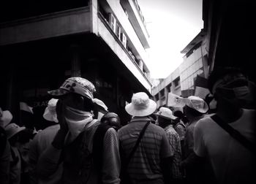
[[[82,77],[70,77],[61,85],[59,89],[48,91],[51,96],[58,99],[67,93],[78,93],[81,96],[86,96],[89,99],[94,98],[95,87],[89,81]]]

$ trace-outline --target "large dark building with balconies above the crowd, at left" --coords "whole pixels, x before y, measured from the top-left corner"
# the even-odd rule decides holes
[[[1,107],[19,115],[19,101],[41,116],[67,77],[96,86],[96,97],[127,120],[132,93],[151,95],[148,32],[136,0],[1,1]],[[17,121],[16,121],[17,122]],[[17,122],[18,123],[18,122]]]

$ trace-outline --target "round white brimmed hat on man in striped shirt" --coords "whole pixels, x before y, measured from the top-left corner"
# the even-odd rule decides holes
[[[133,94],[132,102],[125,107],[129,115],[140,117],[151,115],[156,109],[156,102],[149,99],[148,95],[144,92]]]

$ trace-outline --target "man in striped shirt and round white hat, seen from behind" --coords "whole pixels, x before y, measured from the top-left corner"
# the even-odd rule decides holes
[[[132,115],[132,120],[118,130],[122,164],[127,163],[140,132],[151,121],[151,115],[157,109],[157,104],[143,92],[135,93],[132,102],[125,110]],[[124,160],[123,160],[124,159]],[[138,144],[135,153],[127,164],[125,175],[129,176],[130,183],[170,183],[171,180],[171,153],[170,145],[161,127],[149,123]]]

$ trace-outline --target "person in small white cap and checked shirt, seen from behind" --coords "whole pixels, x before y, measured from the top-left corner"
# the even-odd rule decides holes
[[[178,136],[178,133],[173,129],[173,120],[176,117],[173,115],[173,112],[167,107],[161,107],[158,114],[158,124],[160,127],[165,129],[167,138],[170,143],[170,153],[172,154],[172,173],[173,183],[180,183],[182,176],[179,169],[179,164],[181,162],[181,142]]]

